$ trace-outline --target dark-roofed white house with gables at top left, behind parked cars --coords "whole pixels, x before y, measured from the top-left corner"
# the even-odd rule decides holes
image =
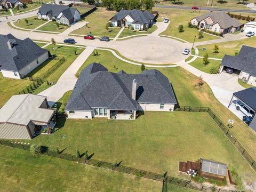
[[[70,8],[67,5],[43,4],[39,8],[37,15],[38,19],[55,19],[57,22],[66,25],[81,19],[80,12],[76,8]]]

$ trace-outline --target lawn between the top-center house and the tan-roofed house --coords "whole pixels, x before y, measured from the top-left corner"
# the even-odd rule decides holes
[[[184,39],[185,41],[188,41],[190,43],[193,43],[194,37],[196,36],[195,42],[201,42],[201,41],[209,41],[212,39],[218,39],[220,37],[212,36],[209,34],[203,34],[203,38],[198,38],[199,31],[195,28],[189,28],[188,22],[193,19],[194,17],[197,17],[198,15],[203,14],[203,12],[191,12],[190,10],[174,10],[174,9],[157,9],[159,12],[158,18],[169,18],[170,24],[167,27],[167,29],[161,33],[161,35],[169,35],[178,37],[181,39]],[[179,33],[178,27],[179,25],[183,25],[184,31],[182,33]]]

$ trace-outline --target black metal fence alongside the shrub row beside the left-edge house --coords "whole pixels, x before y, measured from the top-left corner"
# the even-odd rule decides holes
[[[24,79],[29,79],[30,81],[33,81],[30,83],[25,89],[19,91],[19,94],[26,94],[26,93],[31,93],[35,89],[37,89],[38,86],[40,86],[45,79],[53,73],[55,69],[57,69],[63,62],[65,62],[64,57],[54,57],[54,60],[59,60],[57,63],[55,63],[50,69],[46,70],[43,74],[39,76],[28,76],[25,77]]]

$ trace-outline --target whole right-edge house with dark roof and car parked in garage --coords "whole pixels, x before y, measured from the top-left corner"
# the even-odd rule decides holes
[[[238,78],[247,84],[256,86],[256,48],[243,45],[236,56],[224,55],[220,73],[227,68],[239,74]]]

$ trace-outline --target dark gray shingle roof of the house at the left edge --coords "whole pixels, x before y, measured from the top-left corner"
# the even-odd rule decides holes
[[[10,50],[7,41],[11,41],[13,48]],[[19,71],[30,62],[47,52],[31,39],[18,39],[11,34],[0,35],[0,65],[1,69]]]

